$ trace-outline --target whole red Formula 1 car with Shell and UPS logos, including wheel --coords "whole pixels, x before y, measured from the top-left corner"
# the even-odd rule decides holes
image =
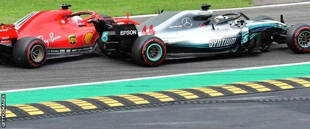
[[[96,53],[98,34],[93,18],[107,18],[119,24],[140,23],[129,18],[112,18],[93,11],[72,13],[71,5],[62,9],[35,11],[12,25],[0,24],[0,55],[20,66],[37,68],[46,59]],[[81,18],[85,17],[85,18]]]

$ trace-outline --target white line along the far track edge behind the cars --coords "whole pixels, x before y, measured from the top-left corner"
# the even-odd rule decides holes
[[[301,4],[310,4],[309,2],[296,2],[296,3],[284,3],[284,4],[273,4],[273,5],[263,5],[263,6],[254,6],[254,7],[239,7],[239,8],[227,8],[227,9],[212,9],[213,11],[227,11],[227,10],[239,10],[239,9],[253,9],[253,8],[265,8],[265,7],[279,7],[279,6],[291,6],[291,5],[301,5]],[[148,15],[136,15],[129,16],[129,18],[141,18],[141,17],[153,17],[158,14],[148,14]],[[127,16],[122,16],[120,18],[127,18]]]

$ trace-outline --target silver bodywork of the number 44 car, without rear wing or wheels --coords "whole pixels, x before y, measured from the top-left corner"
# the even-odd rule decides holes
[[[154,36],[162,39],[167,47],[166,59],[178,59],[248,51],[247,49],[252,48],[247,46],[257,43],[264,31],[278,29],[281,33],[290,28],[275,20],[245,19],[243,25],[240,25],[239,17],[233,20],[223,19],[227,22],[220,23],[221,20],[214,22],[215,17],[212,16],[212,10],[163,12],[142,23],[137,30],[139,36],[142,36],[145,35],[143,28],[152,25]],[[210,22],[206,23],[206,19],[210,19]]]

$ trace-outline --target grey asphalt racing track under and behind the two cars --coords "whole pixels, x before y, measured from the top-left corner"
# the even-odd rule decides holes
[[[233,10],[244,12],[250,18],[268,15],[280,20],[284,15],[287,24],[310,24],[310,4],[256,9]],[[231,11],[216,11],[225,14]],[[137,18],[145,21],[147,18]],[[178,73],[223,70],[242,67],[309,62],[309,54],[294,54],[286,44],[272,44],[268,52],[261,54],[233,54],[209,58],[166,60],[158,67],[142,67],[126,59],[113,60],[91,54],[72,58],[48,60],[37,69],[20,68],[12,63],[0,64],[0,90],[44,87],[86,83],[105,80],[128,79]]]

